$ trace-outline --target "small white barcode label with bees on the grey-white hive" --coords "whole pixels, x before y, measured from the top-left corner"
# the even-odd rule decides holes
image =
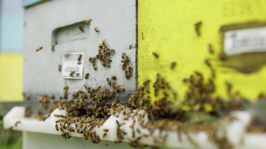
[[[70,79],[82,79],[84,53],[64,53],[62,75]]]

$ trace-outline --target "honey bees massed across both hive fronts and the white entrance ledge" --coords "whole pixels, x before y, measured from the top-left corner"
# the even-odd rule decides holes
[[[91,19],[87,20],[86,23],[91,21]],[[201,21],[195,24],[198,36],[201,35],[201,25]],[[79,29],[83,30],[81,27]],[[100,30],[98,27],[95,27],[95,31],[99,32]],[[36,51],[42,49],[42,47],[37,48]],[[211,44],[208,44],[208,51],[210,54],[214,53],[214,48]],[[97,59],[100,60],[103,67],[111,67],[111,56],[114,53],[115,50],[110,48],[106,40],[102,40],[98,45],[98,54],[90,57],[89,62],[92,63],[95,71],[98,70]],[[219,54],[220,60],[226,59],[226,55],[223,54]],[[152,52],[152,55],[159,60],[157,52]],[[133,74],[130,57],[123,52],[121,58],[122,70],[125,72],[125,77],[129,79]],[[80,61],[81,59],[82,55],[79,55],[78,60]],[[126,103],[121,103],[116,98],[116,95],[124,92],[126,89],[123,85],[118,85],[116,83],[117,77],[112,75],[110,78],[106,78],[106,82],[109,85],[107,87],[92,87],[84,84],[82,89],[69,96],[68,86],[65,86],[60,100],[54,100],[54,95],[41,95],[39,98],[40,106],[43,109],[48,109],[49,107],[48,113],[42,114],[40,111],[37,111],[35,118],[43,121],[56,108],[64,109],[66,110],[66,116],[54,115],[60,118],[60,120],[56,121],[55,128],[57,131],[62,132],[64,139],[71,138],[71,132],[77,132],[83,134],[85,140],[90,139],[93,143],[100,143],[100,136],[94,128],[99,128],[111,115],[119,117],[122,113],[123,121],[132,120],[132,124],[129,126],[132,129],[132,134],[128,134],[123,130],[124,122],[116,121],[117,139],[115,143],[121,143],[128,139],[133,148],[144,148],[147,145],[142,144],[140,140],[143,137],[151,137],[155,145],[164,144],[168,136],[162,132],[169,130],[177,133],[178,141],[183,140],[181,133],[184,133],[190,143],[197,147],[198,145],[191,138],[190,133],[204,131],[208,134],[209,140],[216,142],[220,149],[232,149],[233,145],[225,136],[217,135],[218,125],[216,122],[228,118],[229,113],[234,110],[243,110],[243,103],[248,103],[248,100],[239,91],[233,92],[233,84],[228,81],[225,82],[225,85],[231,100],[223,100],[215,95],[215,69],[211,59],[206,58],[204,63],[211,72],[209,77],[206,78],[201,72],[194,71],[188,77],[180,80],[188,86],[184,97],[181,97],[182,100],[178,97],[177,91],[172,88],[171,82],[166,80],[166,76],[158,73],[154,82],[146,79]],[[176,62],[172,61],[169,69],[174,70],[175,67]],[[62,66],[58,65],[58,71],[61,71],[61,69]],[[87,73],[85,79],[88,79],[89,75]],[[153,84],[151,85],[151,83]],[[29,99],[26,94],[24,96],[25,99]],[[156,100],[152,101],[152,98]],[[266,99],[266,95],[261,94],[260,98]],[[199,114],[203,118],[192,122],[190,118]],[[29,117],[31,115],[31,109],[29,107],[26,108],[25,116]],[[145,116],[147,119],[145,119]],[[253,120],[252,123],[257,124],[258,122]],[[137,124],[140,127],[136,126]],[[142,133],[140,128],[147,129],[149,133]],[[156,129],[160,130],[159,137],[154,136]],[[266,131],[265,127],[254,129],[253,125],[249,125],[247,130]],[[108,129],[103,129],[101,137],[105,138],[108,136],[108,133]],[[126,138],[129,135],[131,138]]]

